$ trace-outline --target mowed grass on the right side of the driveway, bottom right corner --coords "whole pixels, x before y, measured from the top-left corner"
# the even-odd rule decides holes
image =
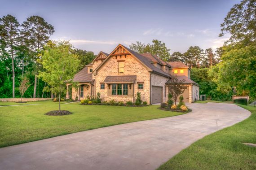
[[[256,107],[239,105],[252,115],[198,140],[159,167],[159,170],[256,170]]]

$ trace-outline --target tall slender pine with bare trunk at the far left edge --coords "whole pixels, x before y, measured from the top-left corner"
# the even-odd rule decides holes
[[[15,47],[18,45],[19,26],[19,22],[12,15],[7,15],[0,18],[0,42],[1,44],[5,44],[5,47],[7,48],[6,51],[12,57],[13,98],[15,97],[14,53]]]

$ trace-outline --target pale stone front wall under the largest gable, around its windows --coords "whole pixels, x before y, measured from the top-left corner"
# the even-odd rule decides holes
[[[124,73],[118,73],[118,61],[124,61]],[[115,75],[137,75],[136,81],[132,84],[133,90],[132,95],[129,96],[112,96],[108,95],[108,84],[105,84],[105,89],[101,89],[101,83],[104,82],[106,76],[115,76]],[[144,88],[138,89],[137,82],[144,82]],[[116,101],[135,101],[135,96],[137,92],[141,92],[141,99],[150,103],[150,72],[146,69],[145,66],[141,65],[137,59],[132,55],[127,55],[126,57],[115,57],[112,56],[108,61],[102,65],[102,67],[97,71],[95,78],[95,94],[97,92],[101,93],[102,100],[116,100]],[[111,87],[110,87],[111,88]]]

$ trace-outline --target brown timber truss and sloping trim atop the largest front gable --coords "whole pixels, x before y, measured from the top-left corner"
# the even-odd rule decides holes
[[[97,73],[97,70],[99,70],[101,68],[102,65],[104,65],[106,63],[106,61],[110,58],[115,56],[116,58],[119,57],[125,57],[127,55],[131,55],[132,57],[134,57],[139,63],[141,63],[141,65],[145,66],[149,71],[152,71],[147,65],[145,65],[143,62],[141,62],[135,55],[132,54],[132,52],[130,51],[130,49],[124,47],[122,44],[119,44],[111,53],[108,57],[106,57],[106,60],[104,60],[102,62],[101,65],[99,65],[94,71],[93,73]]]

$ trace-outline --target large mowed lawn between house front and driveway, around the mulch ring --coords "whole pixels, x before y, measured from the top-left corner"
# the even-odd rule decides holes
[[[59,135],[86,131],[105,126],[164,118],[182,113],[157,109],[159,106],[122,107],[105,105],[61,105],[71,115],[47,116],[51,110],[58,109],[58,102],[28,102],[22,105],[0,107],[0,147],[22,144]],[[8,103],[6,103],[8,104]]]

